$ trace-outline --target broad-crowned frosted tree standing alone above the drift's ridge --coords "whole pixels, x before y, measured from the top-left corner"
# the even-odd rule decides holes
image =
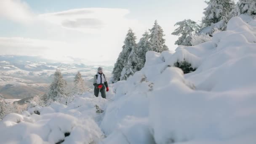
[[[198,32],[199,25],[190,19],[177,22],[174,26],[179,26],[172,32],[172,35],[181,35],[175,42],[176,45],[191,46],[192,35]]]

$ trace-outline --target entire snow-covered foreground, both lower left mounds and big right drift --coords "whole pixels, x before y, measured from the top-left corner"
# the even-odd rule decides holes
[[[197,70],[171,67],[183,59]],[[147,52],[141,71],[110,85],[114,101],[85,93],[7,115],[0,143],[256,144],[255,74],[256,20],[234,17],[212,41]]]

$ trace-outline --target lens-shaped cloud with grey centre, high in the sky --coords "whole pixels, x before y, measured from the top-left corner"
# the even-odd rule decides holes
[[[38,18],[67,29],[87,33],[102,33],[102,30],[109,30],[116,25],[122,26],[127,22],[125,15],[128,13],[130,13],[128,10],[120,8],[80,8],[44,13],[40,14]],[[129,20],[128,23],[137,23],[137,21]]]

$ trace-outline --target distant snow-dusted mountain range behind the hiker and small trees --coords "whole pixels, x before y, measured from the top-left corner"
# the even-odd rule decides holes
[[[79,71],[85,84],[92,87],[93,75],[100,65],[65,64],[37,56],[0,56],[0,94],[6,99],[22,99],[48,91],[56,69],[68,83]],[[110,77],[113,66],[101,66]]]

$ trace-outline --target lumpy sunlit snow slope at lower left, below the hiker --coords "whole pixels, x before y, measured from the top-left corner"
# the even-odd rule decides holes
[[[0,122],[0,144],[96,144],[104,138],[99,128],[104,113],[96,113],[106,99],[90,93],[76,97],[68,106],[53,103],[33,107],[22,115],[9,114]],[[40,115],[35,112],[40,112]]]

